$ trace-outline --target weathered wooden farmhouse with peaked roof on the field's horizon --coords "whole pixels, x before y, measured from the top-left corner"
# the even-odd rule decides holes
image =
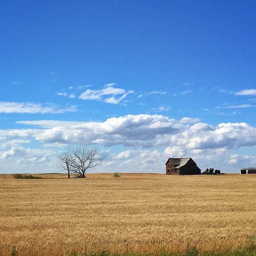
[[[195,175],[201,174],[200,168],[191,157],[169,158],[166,162],[166,174]]]

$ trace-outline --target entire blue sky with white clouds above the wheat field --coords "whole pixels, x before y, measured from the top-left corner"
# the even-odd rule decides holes
[[[2,172],[56,171],[67,144],[97,145],[96,171],[164,172],[168,156],[228,172],[256,164],[255,2],[0,9]]]

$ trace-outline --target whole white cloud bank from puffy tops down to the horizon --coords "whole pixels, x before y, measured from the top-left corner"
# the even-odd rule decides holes
[[[215,168],[224,172],[256,164],[255,156],[249,152],[236,153],[237,148],[244,147],[248,151],[249,147],[256,146],[256,127],[247,123],[213,126],[201,122],[194,124],[199,120],[193,118],[181,120],[163,115],[127,115],[103,122],[19,121],[35,128],[0,130],[1,165],[19,161],[24,168],[28,164],[42,164],[42,170],[54,171],[54,167],[48,167],[55,166],[55,153],[52,152],[67,144],[130,146],[116,154],[111,154],[110,149],[101,150],[105,162],[97,169],[99,172],[113,172],[115,168],[118,171],[164,172],[163,163],[168,157],[192,157],[202,170]],[[42,142],[44,150],[20,146],[33,140]],[[8,170],[8,166],[3,168]],[[16,168],[14,164],[12,168]]]

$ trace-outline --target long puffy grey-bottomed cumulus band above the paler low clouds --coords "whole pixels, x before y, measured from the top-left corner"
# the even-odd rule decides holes
[[[182,120],[182,119],[181,119]],[[44,143],[102,144],[133,147],[177,146],[189,150],[239,148],[256,145],[256,128],[247,123],[207,123],[189,125],[196,120],[180,122],[162,115],[127,115],[104,122],[20,121],[22,124],[49,127],[40,130],[8,131],[32,136]],[[7,131],[0,131],[0,137]]]

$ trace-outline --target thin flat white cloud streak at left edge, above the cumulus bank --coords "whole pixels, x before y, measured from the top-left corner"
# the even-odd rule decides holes
[[[77,111],[76,106],[70,106],[68,108],[59,108],[54,104],[48,104],[43,106],[41,103],[34,102],[7,102],[0,101],[0,113],[52,113],[60,114],[65,112],[75,112]]]

